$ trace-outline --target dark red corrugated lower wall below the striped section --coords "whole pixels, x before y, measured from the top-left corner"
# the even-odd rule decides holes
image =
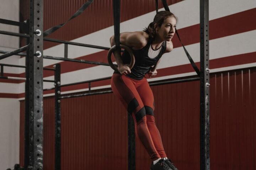
[[[256,170],[256,68],[210,77],[211,169]],[[167,155],[181,170],[199,170],[199,82],[153,86],[152,90]],[[53,97],[44,99],[43,108],[44,169],[53,170]],[[63,170],[127,169],[127,112],[113,94],[64,99],[61,109]],[[22,130],[21,119],[21,134]],[[150,159],[138,141],[137,170],[149,169]]]

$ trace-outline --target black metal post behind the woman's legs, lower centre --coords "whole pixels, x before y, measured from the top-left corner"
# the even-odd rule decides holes
[[[128,170],[135,170],[135,128],[134,120],[128,113]]]

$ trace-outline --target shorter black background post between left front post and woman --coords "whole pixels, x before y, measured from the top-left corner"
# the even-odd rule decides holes
[[[55,65],[55,170],[60,170],[60,64]]]

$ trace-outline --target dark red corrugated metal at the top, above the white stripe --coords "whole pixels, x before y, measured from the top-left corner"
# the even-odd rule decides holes
[[[29,18],[28,1],[20,0],[20,11],[24,19]],[[182,0],[167,0],[167,4],[175,4]],[[44,0],[44,30],[66,22],[87,0]],[[138,17],[155,10],[155,0],[121,0],[120,21]],[[159,8],[162,8],[159,2]],[[113,25],[112,0],[95,0],[79,17],[74,18],[49,38],[73,40]],[[25,41],[22,41],[25,43]],[[24,44],[23,44],[24,45]],[[44,49],[57,45],[45,42]]]

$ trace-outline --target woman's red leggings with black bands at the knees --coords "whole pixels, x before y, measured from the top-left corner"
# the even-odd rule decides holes
[[[135,80],[114,73],[111,87],[114,95],[132,114],[136,136],[140,138],[150,158],[154,161],[166,157],[159,130],[155,125],[153,92],[146,78]]]

